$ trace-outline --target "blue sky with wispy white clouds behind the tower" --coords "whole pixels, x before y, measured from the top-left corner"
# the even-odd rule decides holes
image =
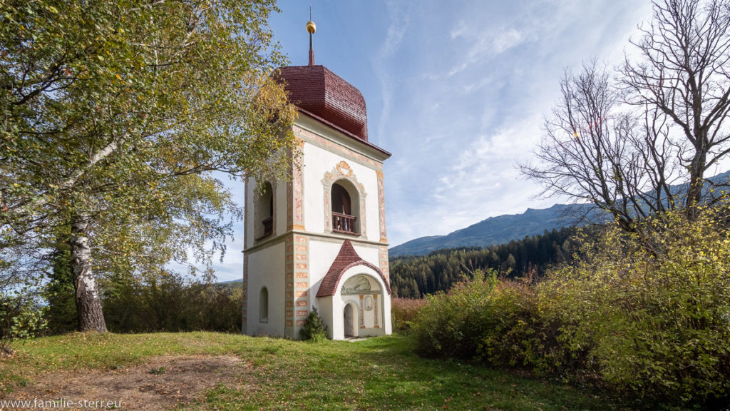
[[[310,4],[315,63],[360,89],[369,140],[393,154],[391,246],[561,202],[535,198],[515,165],[530,161],[564,70],[620,63],[651,15],[646,0],[285,0],[270,25],[292,65],[307,64]],[[242,276],[242,224],[235,235],[221,281]]]

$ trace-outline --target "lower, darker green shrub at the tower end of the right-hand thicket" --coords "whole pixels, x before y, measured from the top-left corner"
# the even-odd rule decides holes
[[[529,279],[497,282],[496,271],[477,271],[449,293],[427,297],[412,333],[419,355],[548,368],[545,358],[556,347],[557,331],[548,332],[536,314]]]

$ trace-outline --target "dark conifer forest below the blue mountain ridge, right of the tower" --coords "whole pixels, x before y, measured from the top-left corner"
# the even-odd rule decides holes
[[[463,278],[466,268],[493,268],[502,276],[518,277],[532,272],[542,275],[548,265],[572,253],[569,238],[575,227],[545,231],[508,244],[485,248],[441,249],[426,255],[391,259],[391,287],[401,298],[448,290]]]

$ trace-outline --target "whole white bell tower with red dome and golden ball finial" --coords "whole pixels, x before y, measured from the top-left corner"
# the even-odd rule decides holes
[[[245,186],[243,333],[299,339],[317,309],[332,339],[391,333],[383,162],[365,99],[324,66],[281,67],[299,117],[288,181]]]

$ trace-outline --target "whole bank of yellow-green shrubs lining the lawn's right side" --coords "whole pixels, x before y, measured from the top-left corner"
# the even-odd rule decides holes
[[[730,221],[666,214],[580,238],[537,284],[475,276],[426,298],[420,355],[528,366],[669,406],[730,403]],[[654,404],[654,403],[652,403]]]

